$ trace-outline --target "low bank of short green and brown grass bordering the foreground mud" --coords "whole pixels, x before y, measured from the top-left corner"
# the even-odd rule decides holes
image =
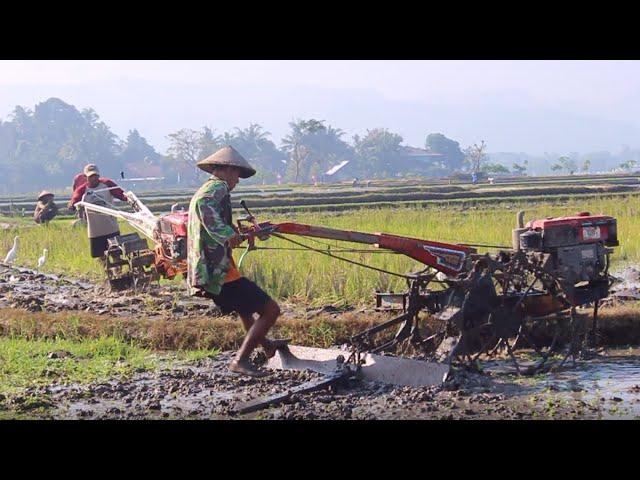
[[[603,345],[640,342],[638,307],[636,302],[602,310]],[[379,318],[357,314],[311,321],[283,319],[273,334],[292,338],[295,344],[328,347],[377,322]],[[127,378],[160,364],[237,348],[242,337],[239,322],[230,318],[148,321],[86,312],[0,310],[0,418],[46,412],[52,406],[46,392],[33,387]]]

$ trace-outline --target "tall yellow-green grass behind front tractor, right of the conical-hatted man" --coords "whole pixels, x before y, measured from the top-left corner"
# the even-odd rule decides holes
[[[452,243],[510,245],[516,211],[523,205],[490,205],[482,208],[448,210],[442,207],[409,207],[368,209],[341,214],[300,213],[295,217],[272,217],[274,221],[297,221],[332,228],[363,232],[386,232],[415,238]],[[547,216],[572,215],[588,210],[605,213],[618,219],[620,246],[613,254],[613,266],[640,261],[640,198],[624,196],[616,199],[590,198],[574,200],[564,205],[526,205],[525,220]],[[295,238],[314,248],[322,245]],[[333,248],[353,246],[344,242],[324,241]],[[280,239],[258,242],[258,246],[295,247]],[[479,248],[480,252],[486,249]],[[402,255],[344,254],[354,260],[385,270],[406,273],[421,268],[421,264]],[[375,289],[404,290],[403,279],[366,270],[313,252],[264,250],[250,252],[242,266],[243,273],[263,285],[278,298],[290,298],[309,303],[370,303]]]

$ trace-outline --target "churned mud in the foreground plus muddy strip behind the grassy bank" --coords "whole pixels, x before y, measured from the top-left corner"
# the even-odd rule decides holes
[[[607,308],[637,300],[640,275],[622,272]],[[0,266],[0,308],[31,312],[89,310],[105,316],[158,317],[218,314],[209,301],[181,296],[174,287],[153,294],[110,294],[102,286]],[[102,312],[102,313],[101,313]],[[603,308],[606,312],[606,308]],[[312,372],[274,371],[265,378],[227,370],[233,352],[197,361],[159,353],[160,366],[129,378],[89,384],[27,388],[0,395],[3,418],[45,419],[636,419],[640,418],[640,350],[608,347],[560,371],[521,377],[507,360],[484,362],[481,371],[455,370],[429,388],[361,380],[240,414],[258,397],[318,380]]]

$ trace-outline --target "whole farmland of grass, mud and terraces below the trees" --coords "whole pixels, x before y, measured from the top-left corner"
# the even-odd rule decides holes
[[[233,199],[237,202],[248,198],[258,221],[297,222],[506,248],[510,248],[511,230],[519,210],[525,211],[525,221],[588,211],[617,218],[620,246],[612,256],[613,272],[640,264],[637,186],[628,183],[628,179],[612,178],[603,183],[598,179],[575,180],[580,181],[540,180],[491,186],[389,182],[370,191],[349,185],[315,192],[293,187],[265,192],[245,189],[234,191]],[[633,182],[637,183],[637,179]],[[157,191],[140,196],[153,211],[165,213],[175,202],[186,203],[188,193]],[[69,215],[56,218],[47,227],[39,226],[28,214],[16,215],[16,210],[2,216],[2,201],[0,260],[19,235],[17,266],[35,269],[46,248],[48,258],[43,273],[92,282],[104,279],[98,261],[89,255],[86,229],[74,228]],[[22,201],[29,204],[27,197]],[[242,211],[236,209],[234,214],[241,215]],[[120,227],[122,233],[133,231],[124,223]],[[391,272],[409,273],[423,268],[408,257],[376,251],[367,245],[289,238]],[[348,342],[353,334],[393,315],[372,311],[376,290],[406,289],[402,278],[301,250],[300,245],[284,239],[272,237],[257,241],[256,245],[258,249],[248,252],[240,269],[283,306],[284,313],[271,332],[274,338],[291,338],[297,345],[326,348]],[[341,251],[345,249],[359,251]],[[236,261],[243,252],[242,247],[235,251]],[[32,273],[23,276],[21,281],[33,290],[20,295],[16,295],[17,289],[10,292],[10,301],[0,308],[0,420],[238,418],[233,410],[236,400],[271,395],[315,378],[305,372],[276,372],[265,380],[228,374],[230,351],[237,349],[244,337],[241,323],[234,317],[212,315],[208,310],[185,313],[193,299],[185,299],[187,307],[180,310],[173,288],[138,297],[93,289],[100,295],[85,299],[84,290],[58,279]],[[3,281],[9,282],[3,286],[10,289],[14,280],[6,274]],[[183,279],[164,282],[186,287]],[[50,295],[51,302],[44,308],[32,308],[35,304],[30,301],[17,301],[41,297],[51,288],[60,290]],[[75,301],[81,308],[75,309]],[[56,302],[69,302],[69,306],[58,310]],[[329,305],[338,308],[326,308]],[[563,372],[508,377],[508,381],[502,380],[504,375],[464,374],[456,377],[458,383],[436,393],[391,386],[370,392],[360,385],[296,398],[291,405],[276,406],[260,413],[264,416],[249,418],[372,419],[406,415],[438,419],[637,419],[640,356],[637,348],[629,344],[637,344],[640,338],[639,305],[637,301],[614,305],[603,309],[599,317],[600,341],[608,347],[624,347],[620,351],[625,356],[616,350],[607,353],[606,358],[585,361],[572,371],[570,380]],[[589,314],[579,312],[585,318]],[[607,379],[604,386],[598,383],[600,378]],[[576,387],[578,382],[580,389]],[[582,392],[581,396],[574,398],[577,392]]]

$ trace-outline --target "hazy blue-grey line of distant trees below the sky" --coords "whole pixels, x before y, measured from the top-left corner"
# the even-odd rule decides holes
[[[33,110],[17,106],[7,121],[0,121],[0,193],[8,194],[69,186],[87,163],[98,164],[111,175],[165,177],[166,186],[192,186],[206,174],[195,163],[231,145],[256,168],[254,183],[339,180],[344,178],[442,177],[452,174],[543,174],[590,171],[593,165],[629,171],[640,152],[627,149],[614,160],[608,152],[586,156],[571,153],[532,157],[526,154],[488,154],[484,141],[464,149],[441,133],[426,135],[419,147],[404,145],[401,135],[386,128],[367,130],[347,140],[346,133],[324,120],[298,119],[276,145],[271,134],[256,123],[230,132],[210,127],[170,133],[162,155],[140,133],[130,130],[121,140],[88,108],[79,111],[57,98]],[[607,156],[608,155],[608,156]],[[605,161],[603,161],[605,160]],[[348,161],[328,177],[326,172]],[[617,163],[616,163],[617,162]],[[535,171],[534,171],[535,170]]]

